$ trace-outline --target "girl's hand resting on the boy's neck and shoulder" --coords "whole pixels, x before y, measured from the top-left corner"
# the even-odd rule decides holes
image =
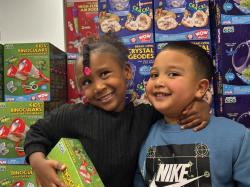
[[[194,131],[199,131],[205,128],[210,118],[210,106],[204,100],[195,100],[182,112],[179,119],[181,128],[193,128]]]

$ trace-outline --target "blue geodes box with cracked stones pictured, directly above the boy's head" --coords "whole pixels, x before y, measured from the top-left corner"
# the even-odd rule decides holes
[[[155,41],[209,40],[209,0],[155,0]]]

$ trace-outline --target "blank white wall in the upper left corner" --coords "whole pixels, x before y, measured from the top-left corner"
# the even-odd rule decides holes
[[[63,0],[0,0],[0,43],[27,42],[65,51]]]

